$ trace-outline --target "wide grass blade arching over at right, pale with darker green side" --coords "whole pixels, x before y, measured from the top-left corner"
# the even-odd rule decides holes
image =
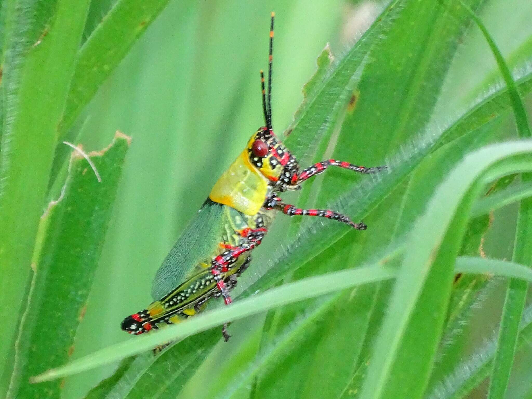
[[[468,155],[437,188],[427,211],[413,227],[364,381],[363,399],[388,397],[391,388],[396,389],[396,398],[421,397],[442,328],[442,310],[452,286],[449,266],[454,264],[473,198],[478,196],[479,185],[473,186],[476,189],[471,189],[471,185],[493,164],[531,150],[531,142],[480,149]],[[451,234],[446,234],[448,228]],[[428,309],[417,306],[427,303]],[[431,322],[427,323],[429,319]],[[413,362],[410,353],[414,347],[423,356]],[[398,367],[406,363],[409,368]]]

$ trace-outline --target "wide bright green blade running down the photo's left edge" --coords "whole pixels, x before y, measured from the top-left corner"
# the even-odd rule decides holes
[[[0,317],[5,336],[4,363],[12,350],[11,335],[19,321],[30,276],[39,217],[45,205],[49,170],[89,0],[50,3],[54,16],[38,40],[17,34],[6,44],[2,87],[4,125],[0,152]],[[13,24],[24,32],[28,11],[16,7]],[[30,20],[32,20],[31,15]],[[40,21],[43,23],[44,21]],[[19,32],[20,33],[20,32]],[[31,43],[31,42],[30,42]],[[22,51],[21,51],[22,48]],[[9,373],[9,370],[4,370]]]

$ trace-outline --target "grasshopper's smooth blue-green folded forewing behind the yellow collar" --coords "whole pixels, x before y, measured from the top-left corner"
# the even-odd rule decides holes
[[[210,260],[220,243],[225,207],[207,200],[197,211],[155,274],[152,285],[154,300],[179,286],[199,263]]]

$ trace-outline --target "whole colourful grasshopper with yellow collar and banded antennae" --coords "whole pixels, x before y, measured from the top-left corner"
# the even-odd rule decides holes
[[[265,126],[254,132],[244,151],[214,184],[209,197],[164,259],[153,281],[152,296],[156,301],[122,321],[122,330],[130,334],[138,335],[186,320],[200,312],[213,297],[221,296],[229,305],[232,302],[230,290],[250,264],[251,252],[261,244],[276,212],[334,219],[358,230],[367,228],[362,221],[354,223],[341,213],[301,209],[284,203],[278,196],[288,190],[300,189],[305,180],[330,166],[359,173],[375,173],[386,167],[365,168],[327,160],[300,170],[297,160],[272,128],[274,16],[272,13],[268,94],[264,73],[260,71]],[[226,341],[230,337],[227,324],[222,328],[222,335]]]

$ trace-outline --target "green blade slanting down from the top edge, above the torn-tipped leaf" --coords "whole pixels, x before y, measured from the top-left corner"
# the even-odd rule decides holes
[[[64,137],[96,90],[146,31],[168,0],[119,0],[79,49],[72,84],[59,126]]]

